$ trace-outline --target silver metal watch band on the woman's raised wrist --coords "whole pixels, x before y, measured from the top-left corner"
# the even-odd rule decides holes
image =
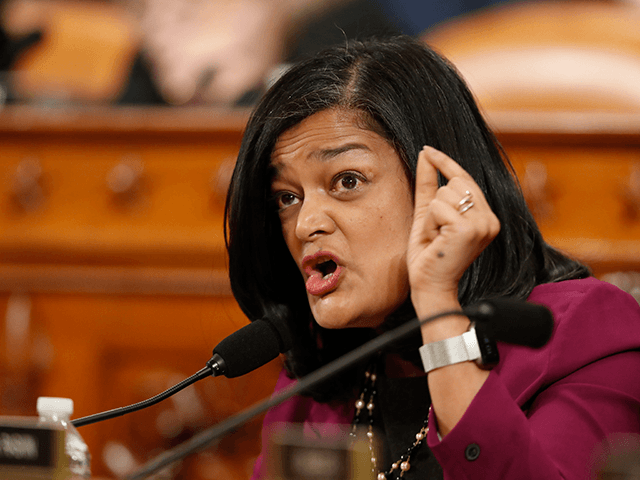
[[[469,331],[457,337],[427,343],[420,347],[419,351],[424,371],[427,373],[454,363],[482,358],[478,337],[473,326]]]

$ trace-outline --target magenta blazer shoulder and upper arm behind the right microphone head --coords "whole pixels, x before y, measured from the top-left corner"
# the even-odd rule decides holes
[[[498,345],[496,370],[520,404],[585,365],[640,350],[640,305],[614,285],[595,278],[549,283],[536,287],[528,300],[551,310],[554,328],[539,349]]]

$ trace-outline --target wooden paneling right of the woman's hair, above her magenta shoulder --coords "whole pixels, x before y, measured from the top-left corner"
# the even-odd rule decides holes
[[[640,270],[640,114],[487,117],[545,239],[598,276]]]

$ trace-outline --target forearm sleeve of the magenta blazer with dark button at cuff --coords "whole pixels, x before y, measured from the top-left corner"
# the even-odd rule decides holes
[[[638,378],[640,352],[607,357],[545,389],[525,413],[492,372],[441,442],[430,430],[429,446],[445,479],[590,478],[604,438],[640,432]]]

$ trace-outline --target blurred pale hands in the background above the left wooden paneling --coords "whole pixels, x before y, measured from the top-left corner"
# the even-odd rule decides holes
[[[299,2],[304,4],[304,2]],[[285,56],[297,3],[143,0],[143,54],[172,104],[233,104]]]

